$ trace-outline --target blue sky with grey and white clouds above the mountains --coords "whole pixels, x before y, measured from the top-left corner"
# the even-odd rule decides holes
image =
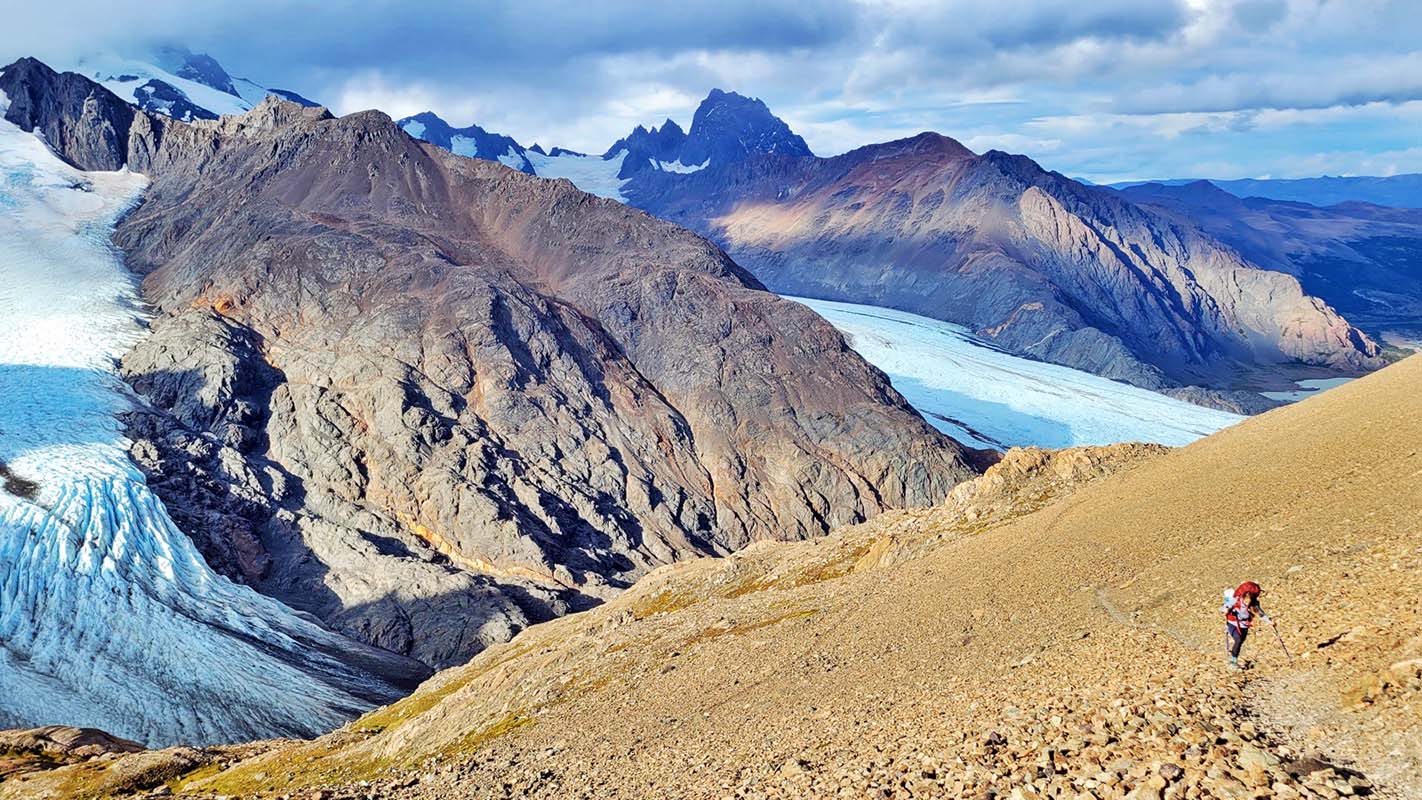
[[[762,98],[819,155],[937,131],[1096,182],[1422,172],[1422,0],[68,0],[0,57],[159,44],[337,114],[602,152]],[[102,24],[75,24],[102,20]]]

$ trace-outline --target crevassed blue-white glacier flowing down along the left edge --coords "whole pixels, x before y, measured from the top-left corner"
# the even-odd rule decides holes
[[[213,573],[128,459],[144,317],[109,236],[144,186],[0,119],[0,728],[316,735],[398,695],[340,658],[371,648]]]

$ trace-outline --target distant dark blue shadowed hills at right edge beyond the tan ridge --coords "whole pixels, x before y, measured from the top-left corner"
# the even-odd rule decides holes
[[[1145,183],[1122,195],[1199,226],[1261,267],[1297,277],[1304,291],[1372,334],[1422,335],[1419,209],[1240,199],[1207,180]]]

